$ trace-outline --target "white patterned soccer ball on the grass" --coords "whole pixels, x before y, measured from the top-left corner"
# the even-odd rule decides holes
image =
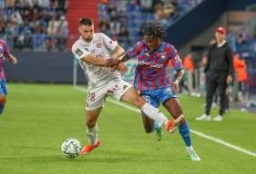
[[[81,152],[81,144],[77,139],[67,139],[61,145],[61,151],[68,159],[76,158]]]

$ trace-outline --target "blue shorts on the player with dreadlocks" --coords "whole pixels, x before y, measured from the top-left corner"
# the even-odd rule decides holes
[[[170,98],[177,98],[172,88],[159,88],[158,90],[142,91],[140,96],[152,106],[158,108],[160,102],[164,103]]]

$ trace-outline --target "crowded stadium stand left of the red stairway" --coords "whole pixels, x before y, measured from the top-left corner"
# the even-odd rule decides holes
[[[0,31],[16,50],[63,51],[67,43],[65,0],[1,1]]]

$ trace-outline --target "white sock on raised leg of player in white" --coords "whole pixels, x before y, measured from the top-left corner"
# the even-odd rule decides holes
[[[158,108],[155,108],[148,102],[142,106],[141,111],[143,111],[148,116],[148,118],[159,121],[161,125],[166,125],[169,121],[168,118],[161,111],[159,111]]]

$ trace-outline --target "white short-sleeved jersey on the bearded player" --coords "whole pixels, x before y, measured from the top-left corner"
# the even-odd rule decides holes
[[[120,73],[112,72],[109,68],[88,64],[80,59],[86,57],[89,53],[92,53],[98,58],[108,59],[110,58],[110,53],[112,53],[117,46],[117,41],[111,40],[106,34],[102,33],[94,34],[92,41],[89,43],[80,37],[77,42],[73,44],[72,53],[79,61],[84,73],[86,73],[89,86],[103,85],[111,79],[120,78]]]

